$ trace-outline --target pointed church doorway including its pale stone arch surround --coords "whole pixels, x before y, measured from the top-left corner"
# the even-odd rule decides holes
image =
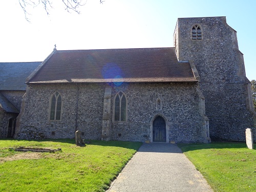
[[[168,137],[168,120],[158,113],[150,121],[150,141],[151,142],[169,142]]]

